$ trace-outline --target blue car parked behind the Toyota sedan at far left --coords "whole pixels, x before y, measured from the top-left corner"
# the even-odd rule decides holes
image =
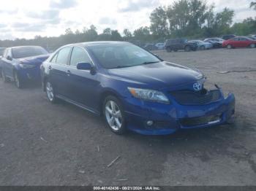
[[[1,58],[1,74],[4,82],[15,81],[18,88],[40,78],[40,65],[49,57],[48,52],[37,46],[8,47]]]

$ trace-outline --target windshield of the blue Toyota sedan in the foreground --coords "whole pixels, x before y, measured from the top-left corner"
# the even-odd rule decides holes
[[[100,44],[89,50],[105,69],[160,62],[159,58],[133,44]]]

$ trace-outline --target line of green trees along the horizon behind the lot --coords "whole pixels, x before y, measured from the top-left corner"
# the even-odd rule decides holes
[[[256,10],[256,1],[249,7]],[[35,36],[34,39],[0,41],[0,47],[18,45],[39,45],[48,50],[56,50],[64,44],[89,41],[129,41],[143,45],[146,42],[164,42],[165,39],[184,37],[205,38],[222,34],[249,35],[256,33],[256,17],[248,17],[241,23],[233,24],[235,12],[225,8],[214,13],[214,4],[208,6],[203,0],[176,0],[167,7],[157,7],[151,12],[150,26],[142,26],[131,32],[125,28],[122,35],[118,30],[105,28],[98,34],[91,25],[82,31],[67,28],[65,34],[57,37]]]

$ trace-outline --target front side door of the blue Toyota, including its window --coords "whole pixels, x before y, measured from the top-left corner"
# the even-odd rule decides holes
[[[95,109],[97,87],[99,82],[97,74],[91,71],[78,70],[78,63],[91,63],[94,66],[88,52],[83,47],[73,47],[69,66],[69,98],[77,101],[89,109]]]

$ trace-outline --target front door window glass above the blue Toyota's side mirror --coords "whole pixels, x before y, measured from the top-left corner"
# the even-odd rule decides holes
[[[83,48],[74,47],[70,58],[70,66],[77,66],[78,63],[91,63],[91,60]]]

